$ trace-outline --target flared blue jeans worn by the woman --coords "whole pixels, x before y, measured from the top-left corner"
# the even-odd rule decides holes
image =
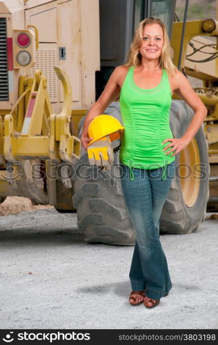
[[[135,248],[130,267],[132,290],[146,289],[151,299],[160,299],[172,282],[164,250],[159,240],[161,210],[175,177],[175,161],[166,166],[166,179],[161,179],[163,167],[157,169],[130,168],[120,163],[121,186],[126,206],[136,231]]]

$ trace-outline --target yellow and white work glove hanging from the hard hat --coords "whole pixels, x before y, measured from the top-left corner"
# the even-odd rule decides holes
[[[110,164],[115,160],[109,135],[88,144],[87,153],[90,165],[97,164],[105,170],[110,168]]]

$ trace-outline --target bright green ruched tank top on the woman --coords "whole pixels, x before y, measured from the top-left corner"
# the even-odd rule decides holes
[[[171,90],[166,70],[162,70],[161,82],[156,88],[139,88],[133,79],[135,67],[129,68],[120,93],[120,108],[125,128],[121,140],[119,159],[130,167],[130,179],[134,179],[132,168],[163,169],[175,161],[173,152],[165,155],[161,144],[173,138],[170,130]],[[169,150],[169,149],[168,149]]]

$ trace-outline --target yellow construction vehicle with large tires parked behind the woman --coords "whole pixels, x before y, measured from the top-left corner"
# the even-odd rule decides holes
[[[135,26],[152,15],[166,23],[178,68],[202,81],[196,92],[208,107],[204,126],[176,156],[161,232],[191,233],[204,220],[208,201],[217,209],[218,23],[187,21],[188,1],[184,20],[173,22],[175,5],[175,0],[0,0],[1,201],[17,195],[59,212],[77,211],[86,241],[135,243],[119,151],[111,168],[101,170],[90,166],[79,137],[87,110],[126,60]],[[170,112],[172,133],[181,137],[192,110],[173,99]],[[119,101],[105,113],[122,123]]]

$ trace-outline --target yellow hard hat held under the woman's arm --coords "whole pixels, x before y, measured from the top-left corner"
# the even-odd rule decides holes
[[[114,141],[120,138],[120,132],[124,130],[119,120],[110,115],[98,115],[96,116],[88,126],[88,136],[93,138],[88,145],[94,141],[109,135],[110,141]]]

